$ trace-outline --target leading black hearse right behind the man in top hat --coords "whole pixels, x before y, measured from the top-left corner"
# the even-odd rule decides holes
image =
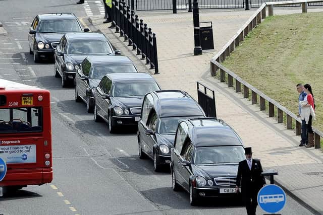
[[[171,150],[173,190],[180,187],[195,205],[203,197],[233,197],[238,164],[245,159],[238,134],[223,120],[182,121]]]

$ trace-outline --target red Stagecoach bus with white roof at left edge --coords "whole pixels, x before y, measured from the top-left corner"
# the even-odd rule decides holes
[[[52,181],[50,94],[0,79],[0,187],[21,189]]]

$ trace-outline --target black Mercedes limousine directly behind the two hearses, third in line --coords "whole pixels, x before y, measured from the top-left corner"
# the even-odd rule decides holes
[[[94,120],[109,123],[110,133],[121,125],[137,125],[143,97],[160,90],[147,73],[105,75],[94,91]]]

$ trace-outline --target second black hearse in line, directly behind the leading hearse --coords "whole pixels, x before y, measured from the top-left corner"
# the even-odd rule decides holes
[[[138,123],[139,158],[150,157],[155,171],[161,166],[169,167],[178,123],[196,117],[205,117],[205,113],[186,92],[161,90],[148,93]]]

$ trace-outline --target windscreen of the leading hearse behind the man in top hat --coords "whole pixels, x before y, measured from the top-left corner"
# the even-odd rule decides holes
[[[245,159],[242,146],[198,147],[194,164],[239,163]]]

